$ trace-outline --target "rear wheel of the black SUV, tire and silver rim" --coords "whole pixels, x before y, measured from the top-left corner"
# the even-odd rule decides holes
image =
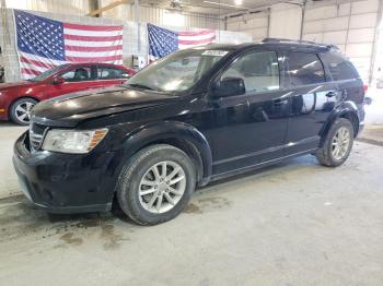
[[[345,130],[347,130],[348,133]],[[337,153],[337,143],[335,143],[335,141],[337,139],[343,139],[343,132],[347,133],[345,138],[348,138],[349,142],[347,146],[345,145],[346,143],[343,143],[341,147],[338,148],[339,152]],[[338,118],[330,127],[323,145],[317,150],[315,154],[317,160],[322,165],[328,167],[340,166],[346,162],[346,159],[350,155],[353,144],[353,127],[351,122],[345,118]],[[345,140],[340,141],[346,142]]]

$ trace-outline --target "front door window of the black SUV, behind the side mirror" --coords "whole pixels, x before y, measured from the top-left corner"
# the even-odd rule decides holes
[[[275,51],[254,51],[237,59],[222,75],[241,78],[246,92],[266,92],[279,88],[278,57]]]

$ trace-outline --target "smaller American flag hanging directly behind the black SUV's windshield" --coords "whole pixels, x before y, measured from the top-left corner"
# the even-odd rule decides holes
[[[162,58],[178,49],[207,45],[216,39],[213,29],[197,32],[173,32],[163,27],[148,24],[149,59]]]

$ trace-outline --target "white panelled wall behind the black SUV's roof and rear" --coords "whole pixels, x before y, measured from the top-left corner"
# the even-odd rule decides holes
[[[365,0],[326,7],[306,7],[302,38],[334,44],[350,58],[365,82],[371,81],[374,40],[379,25],[380,1]],[[229,31],[251,33],[255,40],[269,37],[298,39],[301,33],[302,10],[270,9],[268,13],[229,19]]]

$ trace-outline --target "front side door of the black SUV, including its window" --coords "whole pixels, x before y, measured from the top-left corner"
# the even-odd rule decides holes
[[[241,78],[245,94],[212,100],[213,172],[224,174],[283,156],[289,100],[280,88],[272,50],[253,50],[236,59],[220,80]]]

